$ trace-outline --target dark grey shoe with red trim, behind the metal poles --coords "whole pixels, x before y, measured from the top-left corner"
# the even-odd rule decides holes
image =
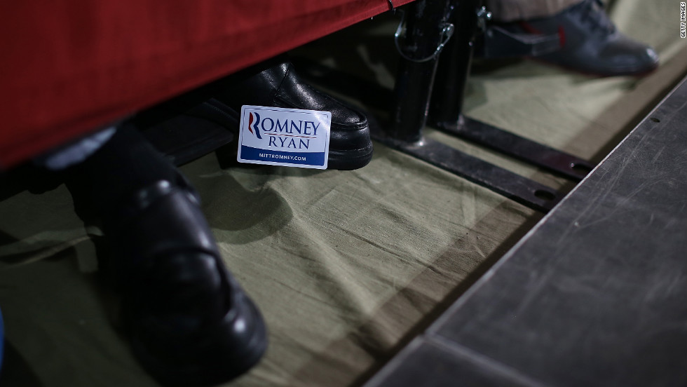
[[[536,57],[601,76],[639,75],[658,67],[658,55],[618,32],[600,0],[585,0],[550,18],[500,25],[510,32],[559,34],[560,50]]]

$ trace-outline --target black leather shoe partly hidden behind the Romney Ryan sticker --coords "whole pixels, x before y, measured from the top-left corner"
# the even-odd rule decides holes
[[[354,170],[372,159],[367,116],[302,81],[286,57],[260,64],[243,74],[246,76],[241,81],[227,83],[215,93],[215,99],[237,117],[243,105],[330,111],[328,168]]]

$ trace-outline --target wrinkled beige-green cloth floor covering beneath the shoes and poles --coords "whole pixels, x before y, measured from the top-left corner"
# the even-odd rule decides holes
[[[599,161],[687,70],[678,1],[619,0],[611,15],[658,50],[656,72],[594,78],[531,61],[476,62],[465,112]],[[346,56],[367,62],[374,80],[389,86],[382,53],[351,36],[365,29],[393,55],[391,18],[315,42],[311,52],[323,50],[327,64]],[[430,128],[426,135],[565,185]],[[232,386],[360,383],[542,216],[381,144],[372,163],[353,172],[222,170],[213,155],[182,170],[270,330],[264,360]],[[155,385],[116,328],[116,297],[97,273],[89,234],[99,231],[83,228],[64,186],[0,203],[3,387]]]

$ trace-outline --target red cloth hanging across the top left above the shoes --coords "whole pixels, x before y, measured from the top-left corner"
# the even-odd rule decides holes
[[[2,1],[0,168],[389,8],[387,0]]]

